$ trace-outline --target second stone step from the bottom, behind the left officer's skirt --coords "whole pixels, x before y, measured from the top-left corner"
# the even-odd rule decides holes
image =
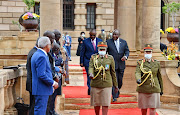
[[[137,97],[120,97],[117,98],[118,102],[137,102]],[[66,104],[76,104],[76,103],[90,103],[90,98],[66,98]]]

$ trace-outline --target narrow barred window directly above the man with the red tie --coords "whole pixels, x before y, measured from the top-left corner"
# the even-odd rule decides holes
[[[96,4],[87,4],[87,29],[96,28]]]

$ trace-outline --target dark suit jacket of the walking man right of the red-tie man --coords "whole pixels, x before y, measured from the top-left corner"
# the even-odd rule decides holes
[[[121,38],[119,38],[119,53],[116,49],[115,43],[113,39],[107,40],[107,52],[109,55],[112,55],[114,57],[115,61],[115,69],[125,69],[125,61],[121,61],[121,58],[123,56],[126,56],[128,58],[129,56],[129,48],[127,45],[127,42]]]

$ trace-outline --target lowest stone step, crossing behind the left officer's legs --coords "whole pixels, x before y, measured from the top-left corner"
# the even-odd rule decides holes
[[[127,104],[111,104],[109,109],[120,109],[120,108],[137,108],[137,103],[127,103]],[[76,104],[65,104],[65,110],[80,110],[80,109],[94,109],[90,105],[76,105]]]

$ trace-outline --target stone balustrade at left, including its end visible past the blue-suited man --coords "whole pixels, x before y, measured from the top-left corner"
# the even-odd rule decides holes
[[[18,115],[16,103],[29,104],[29,92],[26,91],[27,71],[25,64],[18,69],[0,69],[0,115]],[[65,96],[58,96],[56,108],[64,110]]]

